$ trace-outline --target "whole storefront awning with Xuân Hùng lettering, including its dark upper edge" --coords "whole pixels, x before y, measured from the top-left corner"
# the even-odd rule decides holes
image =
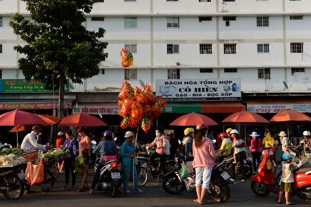
[[[72,108],[74,99],[64,99],[64,109]],[[32,110],[58,108],[58,99],[0,99],[0,110]]]

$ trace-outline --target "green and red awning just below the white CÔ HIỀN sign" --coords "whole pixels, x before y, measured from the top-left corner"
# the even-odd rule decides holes
[[[235,113],[246,107],[236,102],[168,103],[162,113]]]

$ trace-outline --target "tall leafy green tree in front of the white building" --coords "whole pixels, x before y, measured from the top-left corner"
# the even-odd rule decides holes
[[[64,117],[66,77],[82,83],[100,72],[98,64],[108,57],[108,43],[100,41],[105,30],[87,31],[84,22],[96,0],[22,0],[30,19],[20,13],[9,25],[26,45],[14,47],[24,54],[18,67],[26,80],[46,83],[46,89],[59,88],[58,116]]]

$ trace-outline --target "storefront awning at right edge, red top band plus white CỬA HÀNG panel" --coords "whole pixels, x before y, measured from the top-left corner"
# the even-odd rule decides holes
[[[311,100],[248,100],[247,111],[255,113],[277,113],[286,109],[302,113],[311,112]]]

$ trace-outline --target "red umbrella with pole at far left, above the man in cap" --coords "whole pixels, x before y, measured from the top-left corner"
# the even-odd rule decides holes
[[[0,115],[0,126],[18,126],[18,125],[40,125],[47,124],[43,119],[37,115],[26,111],[9,111]],[[18,131],[17,146],[18,146]]]

